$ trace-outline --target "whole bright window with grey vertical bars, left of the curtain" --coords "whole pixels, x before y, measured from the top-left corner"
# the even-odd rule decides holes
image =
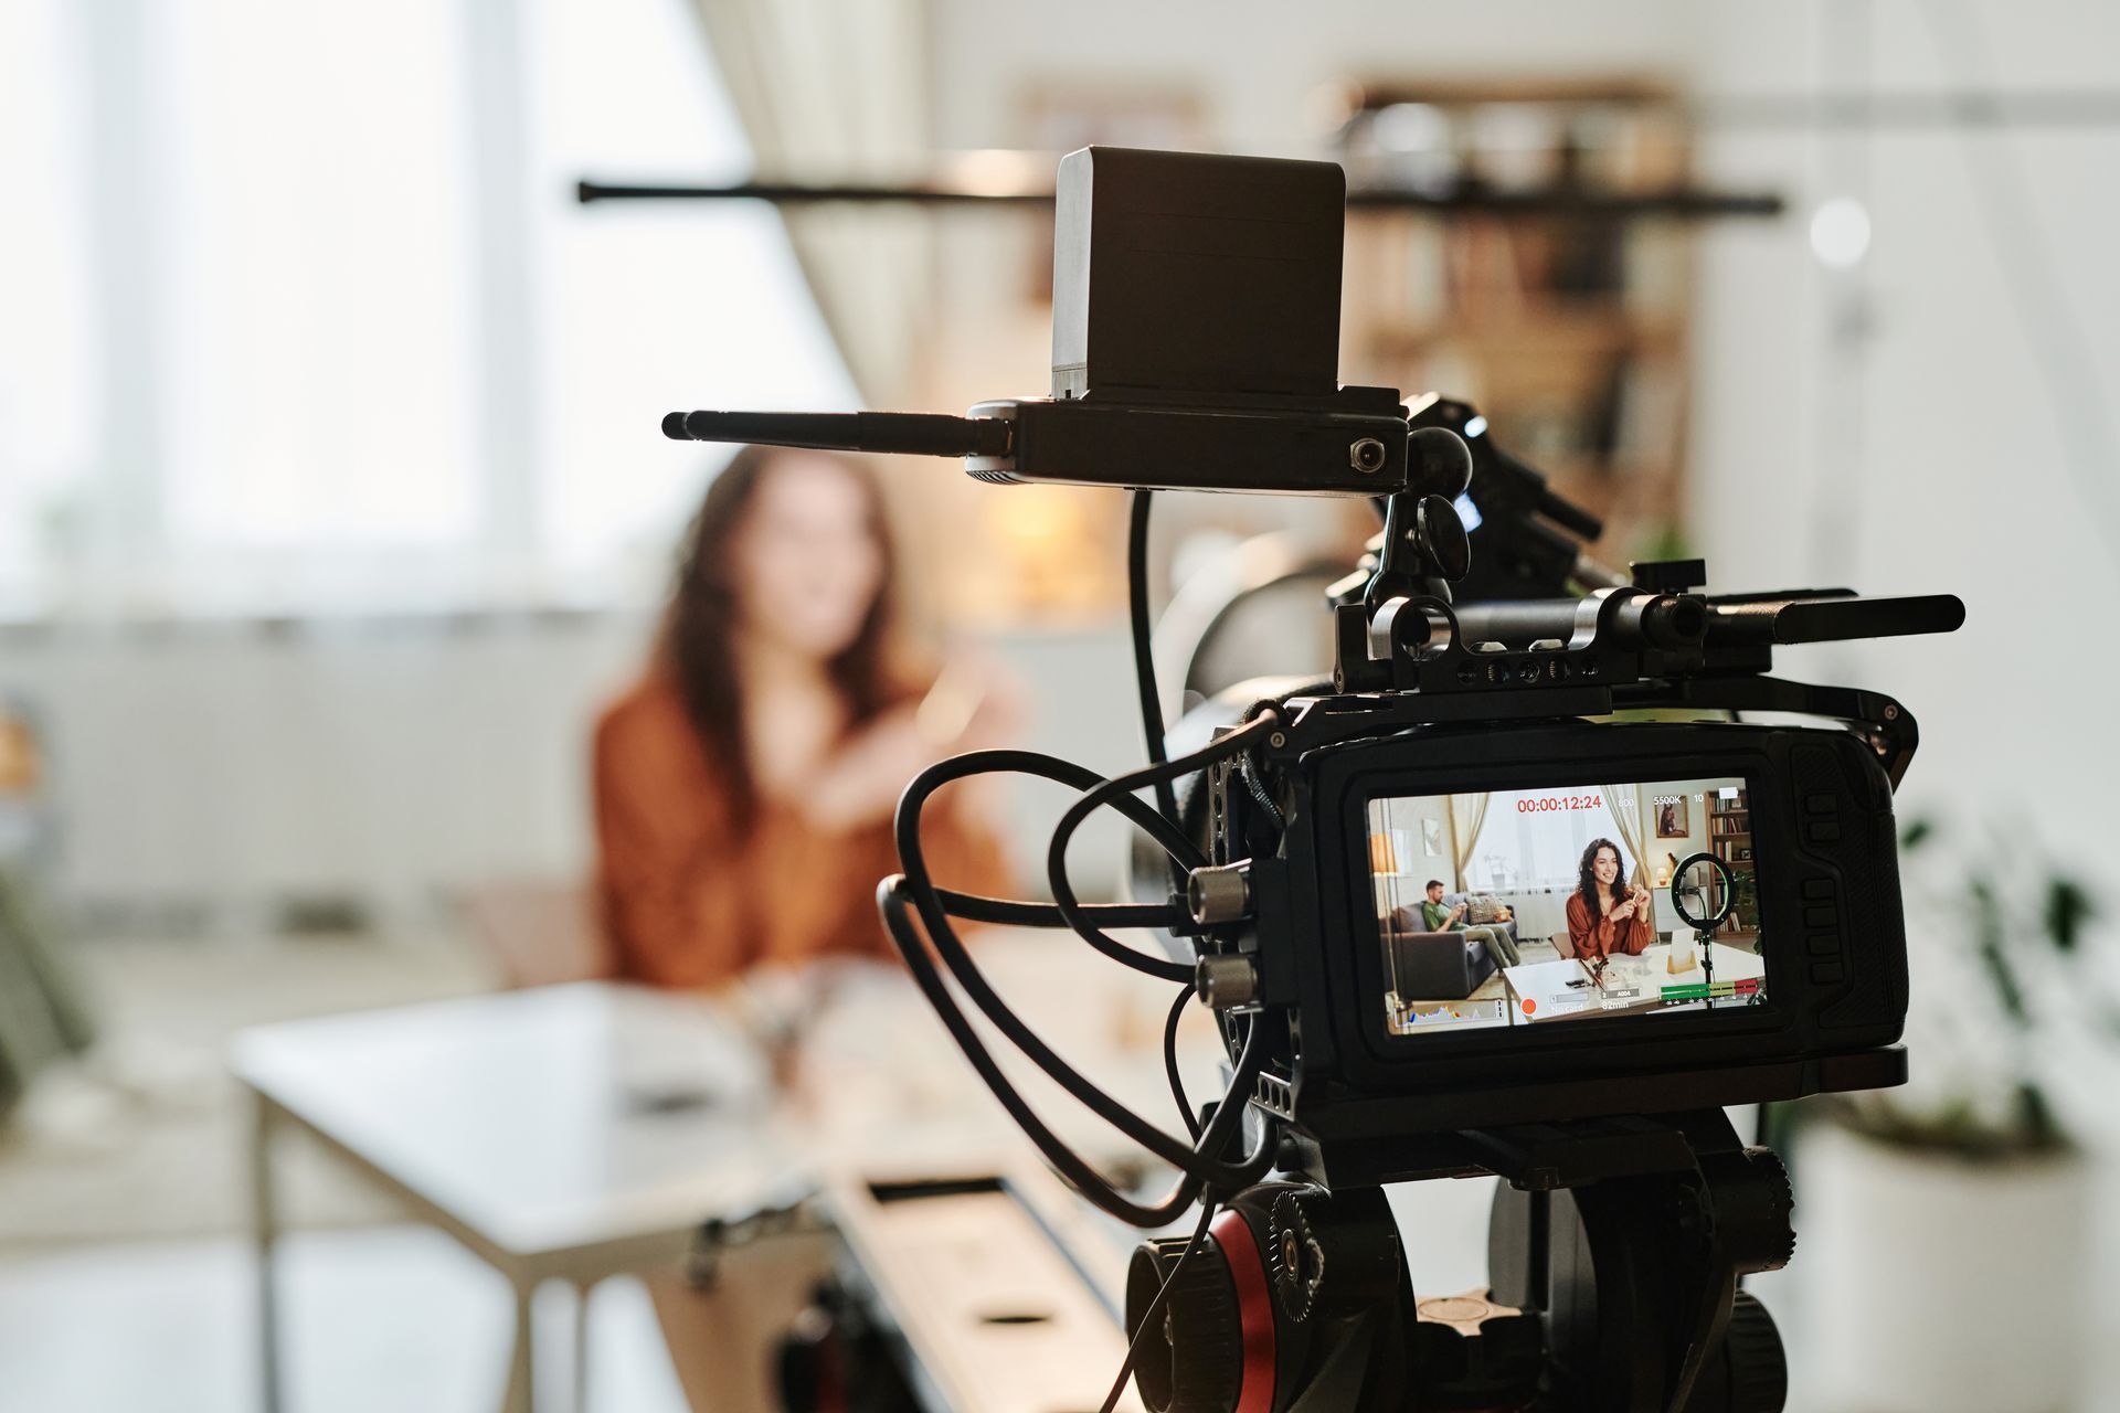
[[[659,593],[661,413],[854,392],[772,210],[575,182],[748,167],[691,0],[0,4],[0,612]]]

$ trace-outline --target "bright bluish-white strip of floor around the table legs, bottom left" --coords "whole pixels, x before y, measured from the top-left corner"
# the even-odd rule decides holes
[[[307,1233],[286,1246],[286,1407],[295,1413],[498,1409],[507,1286],[413,1227]],[[0,1258],[0,1407],[8,1413],[235,1413],[259,1407],[248,1248],[231,1237],[55,1248]],[[541,1307],[545,1388],[570,1388],[568,1294]],[[685,1413],[636,1282],[589,1309],[589,1407]]]

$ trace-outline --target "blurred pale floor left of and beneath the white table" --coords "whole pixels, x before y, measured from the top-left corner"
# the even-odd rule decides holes
[[[76,949],[104,1042],[0,1135],[0,1409],[254,1409],[244,1114],[220,1053],[242,1025],[490,987],[447,932],[100,941]],[[288,1407],[498,1409],[513,1305],[447,1237],[290,1144]],[[570,1320],[564,1290],[541,1318]],[[564,1339],[547,1341],[564,1352]],[[541,1369],[551,1388],[570,1371]],[[647,1294],[591,1305],[596,1409],[683,1413]]]

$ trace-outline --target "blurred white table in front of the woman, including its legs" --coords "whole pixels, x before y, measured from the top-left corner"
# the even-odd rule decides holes
[[[1177,1131],[1158,1053],[1177,987],[1113,966],[1066,936],[996,930],[975,953],[994,985],[1032,1006],[1032,1023],[1085,1074]],[[1026,1140],[899,968],[852,968],[829,996],[808,985],[778,987],[782,1002],[814,1000],[814,1030],[801,1049],[808,1078],[782,1097],[767,1095],[763,1063],[725,1006],[613,983],[290,1021],[237,1036],[233,1070],[257,1114],[267,1413],[282,1407],[271,1163],[280,1133],[318,1140],[509,1280],[511,1413],[534,1409],[530,1305],[545,1282],[572,1286],[581,1311],[608,1275],[676,1267],[704,1218],[784,1199],[827,1169],[882,1155],[937,1171],[1024,1159]],[[1219,1049],[1204,1023],[1185,1036],[1191,1093],[1208,1097]],[[1009,1055],[1003,1068],[1083,1152],[1132,1152],[1079,1106],[1056,1102],[1052,1080],[1032,1076],[1020,1057]],[[681,1104],[697,1095],[714,1102]],[[575,1345],[579,1405],[579,1320]]]

